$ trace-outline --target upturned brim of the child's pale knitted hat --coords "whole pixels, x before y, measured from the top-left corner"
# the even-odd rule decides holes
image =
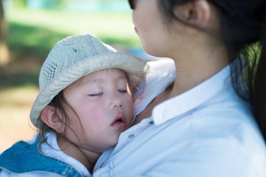
[[[122,69],[134,85],[139,85],[141,81],[145,80],[149,66],[144,59],[125,52],[110,52],[90,57],[90,59],[83,59],[60,73],[57,78],[53,78],[52,82],[40,91],[31,108],[31,123],[40,128],[38,127],[38,117],[41,111],[60,91],[79,78],[102,69]]]

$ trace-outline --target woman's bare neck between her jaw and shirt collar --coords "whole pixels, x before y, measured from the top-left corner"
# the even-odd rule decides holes
[[[190,90],[228,65],[228,55],[224,45],[191,46],[182,54],[173,57],[176,80],[169,97]]]

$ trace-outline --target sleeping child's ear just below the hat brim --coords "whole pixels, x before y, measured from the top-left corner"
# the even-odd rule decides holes
[[[64,132],[64,123],[55,113],[54,106],[46,106],[43,111],[41,111],[41,120],[55,130],[55,132],[62,134]]]

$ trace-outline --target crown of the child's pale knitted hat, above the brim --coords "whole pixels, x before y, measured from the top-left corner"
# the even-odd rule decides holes
[[[38,78],[40,90],[81,60],[115,51],[91,34],[64,38],[55,44],[43,63]]]

